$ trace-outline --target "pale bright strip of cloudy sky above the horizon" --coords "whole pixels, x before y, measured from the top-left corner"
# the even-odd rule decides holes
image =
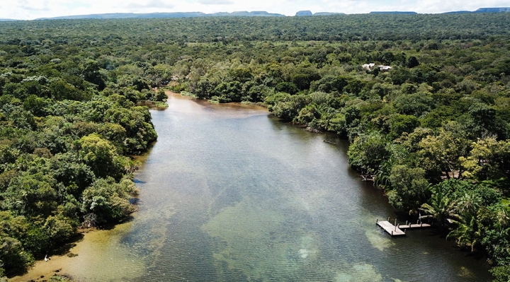
[[[91,13],[268,11],[294,16],[310,10],[336,13],[415,11],[443,13],[508,7],[509,0],[0,0],[0,18],[33,20]]]

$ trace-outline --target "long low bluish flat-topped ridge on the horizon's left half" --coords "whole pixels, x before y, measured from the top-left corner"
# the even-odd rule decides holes
[[[96,13],[91,15],[60,16],[55,18],[37,18],[36,20],[65,20],[65,19],[83,19],[83,18],[196,18],[196,17],[214,17],[214,16],[252,16],[252,17],[284,17],[280,13],[268,13],[266,11],[239,11],[232,13],[202,13],[202,12],[183,12],[183,13]]]

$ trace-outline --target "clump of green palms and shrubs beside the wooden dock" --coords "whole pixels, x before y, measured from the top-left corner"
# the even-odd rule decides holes
[[[510,262],[509,210],[502,197],[486,183],[446,180],[431,188],[432,196],[421,206],[424,217],[434,218],[443,230],[450,230],[460,247],[471,251],[484,248],[499,265]]]

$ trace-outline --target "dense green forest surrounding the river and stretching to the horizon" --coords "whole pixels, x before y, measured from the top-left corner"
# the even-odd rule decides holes
[[[348,139],[392,206],[507,281],[509,54],[509,13],[0,23],[0,274],[133,210],[167,87]]]

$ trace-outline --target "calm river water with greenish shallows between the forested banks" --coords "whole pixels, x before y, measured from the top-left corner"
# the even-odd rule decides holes
[[[179,95],[135,181],[140,211],[62,260],[77,281],[490,281],[483,259],[433,230],[392,238],[382,192],[347,143],[265,110]],[[324,139],[336,144],[323,142]],[[43,262],[42,262],[43,263]],[[57,266],[55,266],[57,267]]]

